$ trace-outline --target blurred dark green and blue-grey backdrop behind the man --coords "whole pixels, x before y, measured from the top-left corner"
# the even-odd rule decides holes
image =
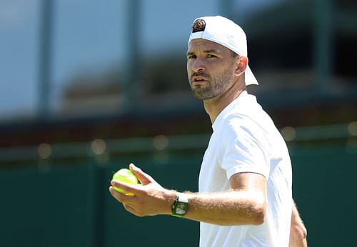
[[[198,246],[199,225],[109,195],[129,162],[196,191],[211,124],[186,78],[190,26],[248,36],[248,91],[288,143],[309,246],[354,243],[353,1],[1,0],[0,246]]]

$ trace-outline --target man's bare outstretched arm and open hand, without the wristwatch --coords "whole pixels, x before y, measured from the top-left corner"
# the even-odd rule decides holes
[[[136,216],[171,215],[178,192],[163,188],[154,178],[130,165],[143,186],[111,181],[111,195]],[[216,193],[186,193],[188,212],[185,218],[230,226],[263,223],[266,213],[266,179],[258,173],[236,173],[230,178],[231,190]],[[114,190],[121,188],[135,196]]]

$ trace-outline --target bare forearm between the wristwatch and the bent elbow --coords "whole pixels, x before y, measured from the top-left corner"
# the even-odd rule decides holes
[[[231,226],[263,223],[266,201],[252,191],[189,193],[185,218],[216,225]]]

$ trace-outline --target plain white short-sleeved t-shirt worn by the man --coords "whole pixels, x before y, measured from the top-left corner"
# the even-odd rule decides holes
[[[260,173],[267,181],[268,207],[260,226],[218,226],[201,222],[201,247],[286,247],[292,193],[288,148],[271,118],[246,91],[226,106],[213,123],[203,157],[199,191],[226,191],[240,172]]]

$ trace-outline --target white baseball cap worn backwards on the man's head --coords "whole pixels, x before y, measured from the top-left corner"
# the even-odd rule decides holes
[[[240,56],[248,56],[246,34],[240,26],[222,16],[199,17],[195,19],[195,21],[198,19],[203,19],[206,23],[206,27],[203,31],[191,31],[188,44],[192,39],[206,39],[226,46]],[[249,66],[246,67],[245,73],[246,85],[258,85],[256,76],[253,75]]]

